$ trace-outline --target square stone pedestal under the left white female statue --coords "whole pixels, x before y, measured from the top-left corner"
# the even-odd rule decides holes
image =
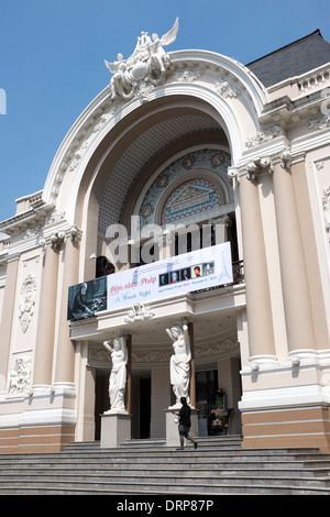
[[[101,415],[101,449],[119,447],[131,438],[131,415],[103,413]]]

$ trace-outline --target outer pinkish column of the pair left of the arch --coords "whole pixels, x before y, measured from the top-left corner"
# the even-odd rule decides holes
[[[33,372],[33,387],[44,389],[52,385],[55,340],[58,253],[51,246],[43,256],[40,309]]]

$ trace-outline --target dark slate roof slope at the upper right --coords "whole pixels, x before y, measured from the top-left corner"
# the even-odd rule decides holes
[[[330,44],[317,29],[289,45],[249,63],[248,68],[265,87],[330,63]]]

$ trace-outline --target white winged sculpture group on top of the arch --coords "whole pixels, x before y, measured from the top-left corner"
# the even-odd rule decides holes
[[[177,32],[178,18],[162,37],[156,33],[150,37],[147,32],[141,32],[134,52],[128,59],[124,59],[122,54],[118,54],[113,63],[105,59],[107,68],[112,74],[109,84],[111,99],[130,100],[140,94],[143,100],[145,98],[143,92],[164,84],[170,64],[170,57],[164,46],[170,45],[176,40]]]

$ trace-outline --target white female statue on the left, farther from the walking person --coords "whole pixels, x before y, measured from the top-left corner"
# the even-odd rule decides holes
[[[108,413],[125,413],[124,395],[127,386],[128,346],[125,336],[105,341],[103,345],[111,352],[112,369],[109,377],[110,410]]]

